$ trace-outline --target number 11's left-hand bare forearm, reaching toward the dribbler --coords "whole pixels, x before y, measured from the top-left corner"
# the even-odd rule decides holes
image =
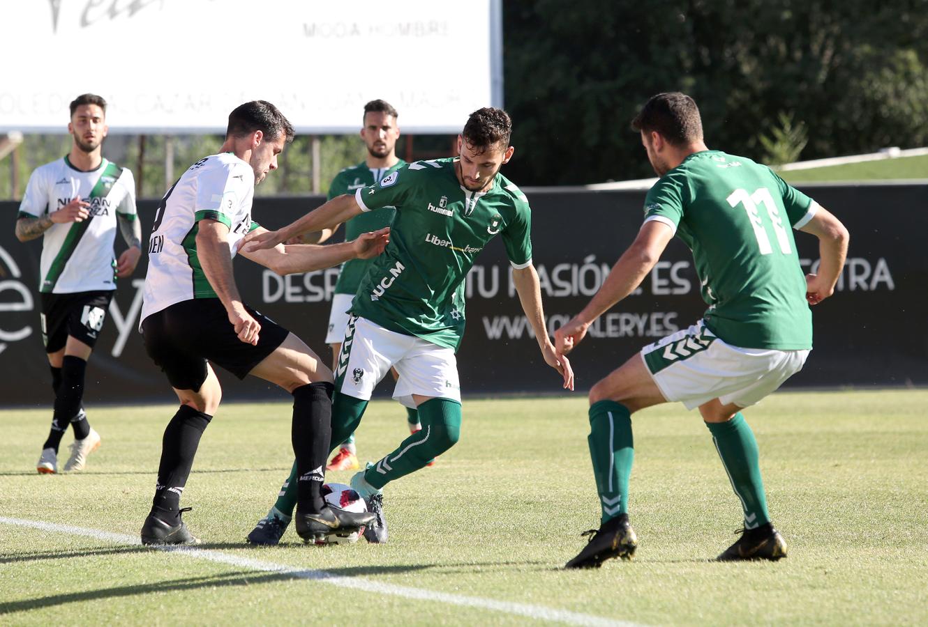
[[[673,236],[674,232],[664,222],[651,220],[641,226],[635,241],[612,266],[599,292],[593,295],[583,311],[554,332],[558,354],[572,351],[583,340],[593,320],[638,288],[664,254],[664,248]]]

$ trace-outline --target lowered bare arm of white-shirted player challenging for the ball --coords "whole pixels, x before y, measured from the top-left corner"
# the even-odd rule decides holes
[[[232,256],[229,254],[228,227],[213,219],[201,219],[199,224],[197,253],[203,273],[226,307],[238,339],[245,344],[257,345],[261,324],[251,317],[238,295],[232,274]]]

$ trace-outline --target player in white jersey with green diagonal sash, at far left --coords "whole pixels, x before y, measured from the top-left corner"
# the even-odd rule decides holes
[[[36,168],[19,205],[16,236],[43,236],[39,292],[42,339],[52,370],[55,411],[36,470],[58,472],[58,446],[74,430],[64,470],[83,470],[100,445],[84,411],[84,371],[106,319],[116,279],[130,276],[141,256],[132,172],[101,154],[107,103],[96,94],[71,102],[71,152]],[[116,259],[116,227],[129,246]]]

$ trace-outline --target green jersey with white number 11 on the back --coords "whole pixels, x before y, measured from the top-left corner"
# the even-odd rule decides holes
[[[818,205],[745,157],[694,153],[656,182],[645,219],[690,247],[709,305],[704,320],[730,345],[812,347],[812,313],[793,232]]]

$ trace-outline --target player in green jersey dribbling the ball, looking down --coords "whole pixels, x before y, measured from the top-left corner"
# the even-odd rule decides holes
[[[531,212],[522,191],[499,173],[512,157],[511,121],[497,108],[470,115],[458,136],[458,157],[417,161],[379,183],[342,195],[277,232],[253,234],[244,251],[315,232],[379,207],[396,207],[390,244],[361,282],[335,368],[331,441],[354,432],[377,382],[399,372],[393,397],[418,408],[422,430],[352,477],[352,487],[377,514],[365,530],[385,542],[382,488],[424,467],[458,442],[461,399],[455,352],[465,324],[464,282],[474,259],[497,234],[506,246],[522,308],[542,356],[574,389],[574,373],[548,340],[538,275],[532,264]],[[293,474],[289,486],[293,485]],[[285,516],[293,490],[277,498]]]

